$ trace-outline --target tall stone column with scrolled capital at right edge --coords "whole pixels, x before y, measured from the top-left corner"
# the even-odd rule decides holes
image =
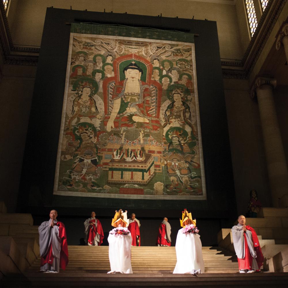
[[[259,105],[272,203],[279,207],[283,206],[279,199],[288,193],[288,171],[273,99],[275,87],[276,79],[257,77],[252,92]]]

